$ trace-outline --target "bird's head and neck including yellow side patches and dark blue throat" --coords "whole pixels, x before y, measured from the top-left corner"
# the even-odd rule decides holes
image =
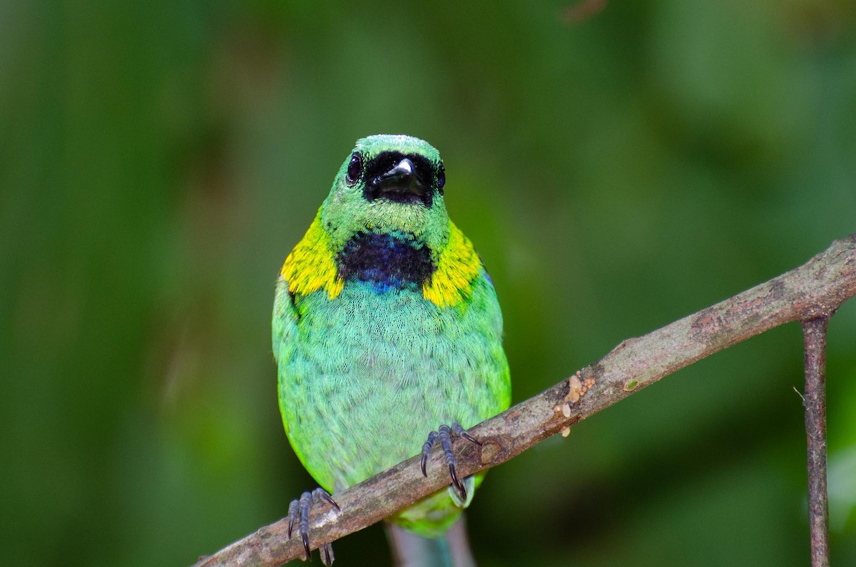
[[[346,282],[377,293],[421,290],[438,307],[466,299],[483,271],[473,244],[449,220],[440,155],[403,135],[357,140],[306,236],[280,272],[292,295]]]

